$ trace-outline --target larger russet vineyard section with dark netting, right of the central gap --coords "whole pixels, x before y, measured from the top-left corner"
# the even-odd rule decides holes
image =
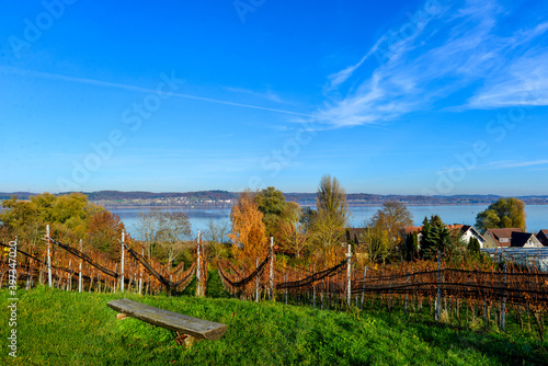
[[[270,260],[271,258],[267,258]],[[264,264],[265,262],[263,262]],[[235,297],[259,300],[263,289],[274,283],[278,300],[327,309],[383,308],[393,311],[430,311],[435,320],[457,321],[463,317],[494,316],[500,329],[511,311],[523,328],[523,316],[533,314],[544,339],[544,314],[548,304],[548,274],[511,262],[482,267],[449,268],[442,261],[399,263],[387,266],[352,265],[351,259],[322,271],[310,267],[276,266],[270,274],[264,266],[236,267],[219,263],[224,285]],[[247,275],[248,274],[248,275]],[[277,282],[276,282],[277,279]],[[266,297],[266,295],[264,296]],[[426,310],[426,308],[429,310]]]

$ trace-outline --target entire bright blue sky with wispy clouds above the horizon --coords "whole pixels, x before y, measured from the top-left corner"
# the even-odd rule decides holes
[[[9,2],[0,191],[548,194],[544,1]]]

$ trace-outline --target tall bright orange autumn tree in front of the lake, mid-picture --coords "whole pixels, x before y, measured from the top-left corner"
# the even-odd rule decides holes
[[[255,263],[256,258],[264,258],[269,253],[263,214],[250,190],[238,196],[238,202],[230,213],[230,221],[232,232],[228,238],[232,241],[232,252],[239,262]]]

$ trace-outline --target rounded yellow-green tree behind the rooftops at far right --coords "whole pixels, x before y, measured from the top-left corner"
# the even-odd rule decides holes
[[[476,217],[476,228],[487,230],[493,228],[520,228],[526,230],[525,203],[521,199],[509,197],[501,198],[489,205]]]

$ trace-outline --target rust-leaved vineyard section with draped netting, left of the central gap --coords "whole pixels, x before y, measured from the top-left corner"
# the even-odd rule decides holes
[[[174,268],[169,268],[158,261],[147,261],[142,254],[144,250],[139,254],[125,243],[130,259],[116,263],[96,251],[84,253],[81,242],[80,249],[77,249],[76,245],[52,238],[47,240],[46,250],[34,249],[31,252],[19,249],[16,240],[8,245],[0,243],[5,252],[1,261],[0,288],[4,282],[9,282],[11,286],[14,279],[9,275],[16,273],[16,281],[23,283],[26,289],[47,283],[49,287],[66,290],[96,293],[128,290],[140,295],[155,295],[165,288],[170,291],[183,291],[193,279],[196,270],[193,264],[185,271],[184,262]],[[57,247],[55,251],[54,245]],[[12,256],[9,253],[20,254],[18,261],[10,262]]]

